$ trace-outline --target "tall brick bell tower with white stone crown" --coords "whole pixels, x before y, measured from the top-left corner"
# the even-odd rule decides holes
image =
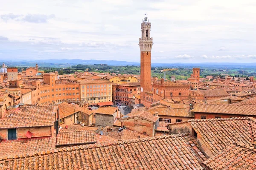
[[[150,37],[151,23],[146,16],[141,23],[140,38],[140,99],[145,101],[145,92],[151,91],[151,49],[153,38]],[[143,103],[143,102],[142,102]]]

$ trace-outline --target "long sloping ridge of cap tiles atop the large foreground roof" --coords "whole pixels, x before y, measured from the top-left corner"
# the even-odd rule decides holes
[[[9,161],[9,159],[17,159],[17,158],[25,158],[28,156],[39,156],[39,155],[46,155],[50,153],[58,153],[61,151],[71,151],[71,150],[82,150],[82,149],[88,149],[88,148],[99,148],[99,147],[105,147],[110,145],[117,145],[117,144],[126,144],[126,143],[135,143],[140,141],[152,141],[155,139],[166,139],[166,138],[175,138],[175,137],[181,137],[181,136],[189,136],[188,133],[179,133],[179,134],[172,134],[172,135],[166,135],[166,136],[154,136],[154,137],[148,137],[148,138],[140,138],[140,139],[128,139],[128,140],[122,140],[122,141],[113,141],[113,142],[99,142],[96,144],[87,144],[87,145],[81,145],[81,146],[71,146],[71,147],[64,147],[64,148],[57,148],[52,150],[46,150],[46,151],[36,151],[26,154],[20,154],[10,157],[3,157],[0,158],[0,161],[6,160]]]

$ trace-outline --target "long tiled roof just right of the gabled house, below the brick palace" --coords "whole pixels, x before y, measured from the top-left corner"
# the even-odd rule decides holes
[[[194,117],[188,109],[183,108],[152,108],[148,110],[149,113],[154,115],[156,112],[158,115],[164,116],[180,116],[180,117]]]

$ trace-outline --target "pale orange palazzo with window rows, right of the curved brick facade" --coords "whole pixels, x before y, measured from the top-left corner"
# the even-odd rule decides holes
[[[89,105],[112,101],[112,83],[103,79],[79,80],[81,101]]]

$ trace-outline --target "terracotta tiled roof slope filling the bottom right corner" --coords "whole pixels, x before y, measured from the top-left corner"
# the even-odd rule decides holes
[[[212,170],[255,170],[256,149],[234,143],[203,164]]]

